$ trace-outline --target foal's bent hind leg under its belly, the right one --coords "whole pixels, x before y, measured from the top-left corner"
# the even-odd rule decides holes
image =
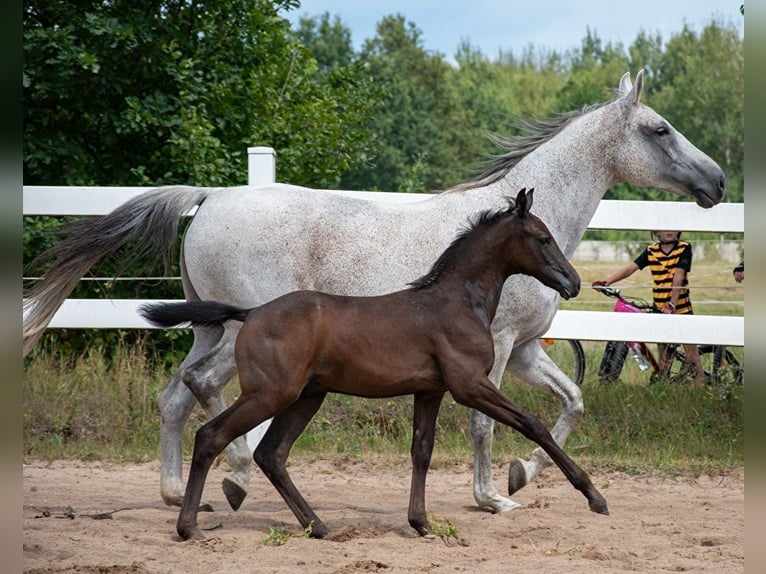
[[[256,464],[293,511],[301,526],[314,538],[327,536],[327,527],[293,484],[285,463],[293,443],[322,406],[326,395],[324,392],[304,392],[301,398],[274,417],[253,453]]]

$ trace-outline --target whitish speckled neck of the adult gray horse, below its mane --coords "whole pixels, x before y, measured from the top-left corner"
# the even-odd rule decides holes
[[[617,182],[610,161],[614,141],[603,127],[607,112],[601,108],[577,118],[524,157],[503,179],[472,192],[501,197],[515,196],[524,187],[534,188],[532,212],[545,222],[561,251],[570,257],[599,201]]]

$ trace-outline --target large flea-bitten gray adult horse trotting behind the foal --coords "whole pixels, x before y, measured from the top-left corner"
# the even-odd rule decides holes
[[[503,205],[522,187],[536,189],[537,215],[571,256],[606,191],[621,182],[693,197],[704,208],[724,195],[721,168],[670,123],[641,103],[643,71],[629,74],[608,102],[527,125],[503,142],[504,153],[474,180],[415,203],[391,204],[272,184],[258,188],[164,187],[100,218],[84,220],[48,255],[53,264],[25,304],[24,350],[32,348],[77,281],[101,257],[129,240],[139,253],[174,249],[178,220],[199,206],[181,248],[188,300],[212,299],[241,307],[261,305],[296,289],[377,295],[422,275],[473,213]],[[627,217],[627,214],[626,214]],[[353,269],[354,273],[348,273]],[[558,294],[524,276],[511,277],[492,323],[499,386],[506,369],[559,398],[551,429],[564,445],[582,416],[580,389],[537,344],[553,320]],[[209,417],[225,409],[224,385],[235,373],[239,324],[196,327],[194,344],[161,391],[161,495],[183,499],[181,431],[195,398]],[[494,423],[472,411],[474,497],[481,507],[518,507],[501,496],[491,476]],[[251,453],[245,439],[228,447],[232,465],[224,492],[233,507],[246,494]],[[536,449],[510,464],[508,490],[531,481],[550,460]]]

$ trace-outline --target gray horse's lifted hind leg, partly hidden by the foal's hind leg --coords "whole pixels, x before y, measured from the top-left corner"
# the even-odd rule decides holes
[[[186,386],[194,393],[208,418],[213,419],[226,409],[223,388],[236,373],[234,342],[237,327],[227,326],[218,343],[198,361],[182,372]],[[250,483],[251,455],[245,437],[238,437],[227,447],[231,475],[223,480],[223,492],[232,509],[237,510],[247,496]]]

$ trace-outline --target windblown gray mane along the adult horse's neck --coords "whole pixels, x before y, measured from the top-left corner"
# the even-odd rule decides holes
[[[483,170],[468,181],[447,190],[447,193],[467,191],[495,183],[505,177],[505,174],[527,155],[556,137],[573,120],[601,108],[611,101],[584,106],[580,110],[557,114],[550,118],[517,120],[514,122],[514,126],[522,132],[521,135],[499,136],[490,134],[489,139],[500,148],[502,153],[490,156]]]

